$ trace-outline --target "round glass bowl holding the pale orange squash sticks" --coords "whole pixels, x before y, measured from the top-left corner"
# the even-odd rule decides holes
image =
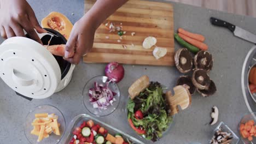
[[[58,123],[60,123],[60,134],[61,135],[51,134],[49,137],[43,139],[40,142],[37,142],[38,136],[31,134],[31,130],[33,129],[33,126],[31,125],[31,123],[35,119],[34,115],[36,113],[49,113],[49,114],[55,113],[55,115],[58,116],[57,121],[58,121]],[[51,106],[51,105],[39,105],[34,110],[31,110],[30,113],[28,113],[28,115],[26,117],[26,122],[24,125],[24,133],[27,137],[27,140],[30,141],[30,143],[56,144],[61,140],[62,136],[64,135],[65,127],[66,127],[65,118],[63,117],[60,110],[58,110],[56,107]]]

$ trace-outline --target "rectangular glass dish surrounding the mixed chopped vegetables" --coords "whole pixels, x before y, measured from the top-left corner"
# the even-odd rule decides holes
[[[108,133],[114,135],[114,134],[121,134],[125,141],[130,141],[133,144],[145,144],[142,141],[137,140],[135,137],[126,134],[124,131],[121,131],[117,128],[112,127],[111,125],[108,125],[106,123],[103,123],[102,121],[98,120],[97,118],[91,117],[90,115],[81,114],[72,119],[72,121],[69,123],[69,126],[67,128],[67,132],[65,133],[65,136],[63,137],[64,143],[69,143],[73,138],[73,131],[75,128],[79,127],[84,121],[92,120],[95,124],[99,124],[101,127],[106,128],[108,130]]]

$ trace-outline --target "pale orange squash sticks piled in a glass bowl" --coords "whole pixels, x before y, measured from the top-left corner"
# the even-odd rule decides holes
[[[31,125],[33,125],[31,134],[38,136],[38,142],[48,138],[52,133],[55,135],[61,135],[60,123],[57,121],[58,116],[56,116],[54,113],[50,115],[48,115],[48,113],[36,113],[34,117],[35,119],[31,123]]]

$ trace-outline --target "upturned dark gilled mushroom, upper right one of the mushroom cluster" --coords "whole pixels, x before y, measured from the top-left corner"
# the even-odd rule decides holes
[[[199,51],[194,57],[194,64],[196,69],[204,69],[207,72],[212,69],[213,58],[208,51]]]

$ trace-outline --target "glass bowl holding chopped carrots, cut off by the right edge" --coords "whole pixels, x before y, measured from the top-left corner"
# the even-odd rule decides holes
[[[241,140],[243,141],[243,143],[247,144],[247,143],[256,143],[256,137],[253,136],[253,140],[252,141],[249,141],[248,139],[245,139],[243,138],[243,136],[241,135],[240,133],[240,125],[243,123],[245,124],[246,122],[248,122],[249,120],[253,120],[254,122],[256,122],[256,113],[255,112],[252,112],[252,113],[246,113],[246,115],[244,115],[242,118],[241,118],[241,121],[240,123],[238,124],[238,131],[239,131],[239,134],[240,134],[240,137],[241,137]],[[256,124],[256,123],[255,123]],[[254,125],[255,125],[254,124]]]

